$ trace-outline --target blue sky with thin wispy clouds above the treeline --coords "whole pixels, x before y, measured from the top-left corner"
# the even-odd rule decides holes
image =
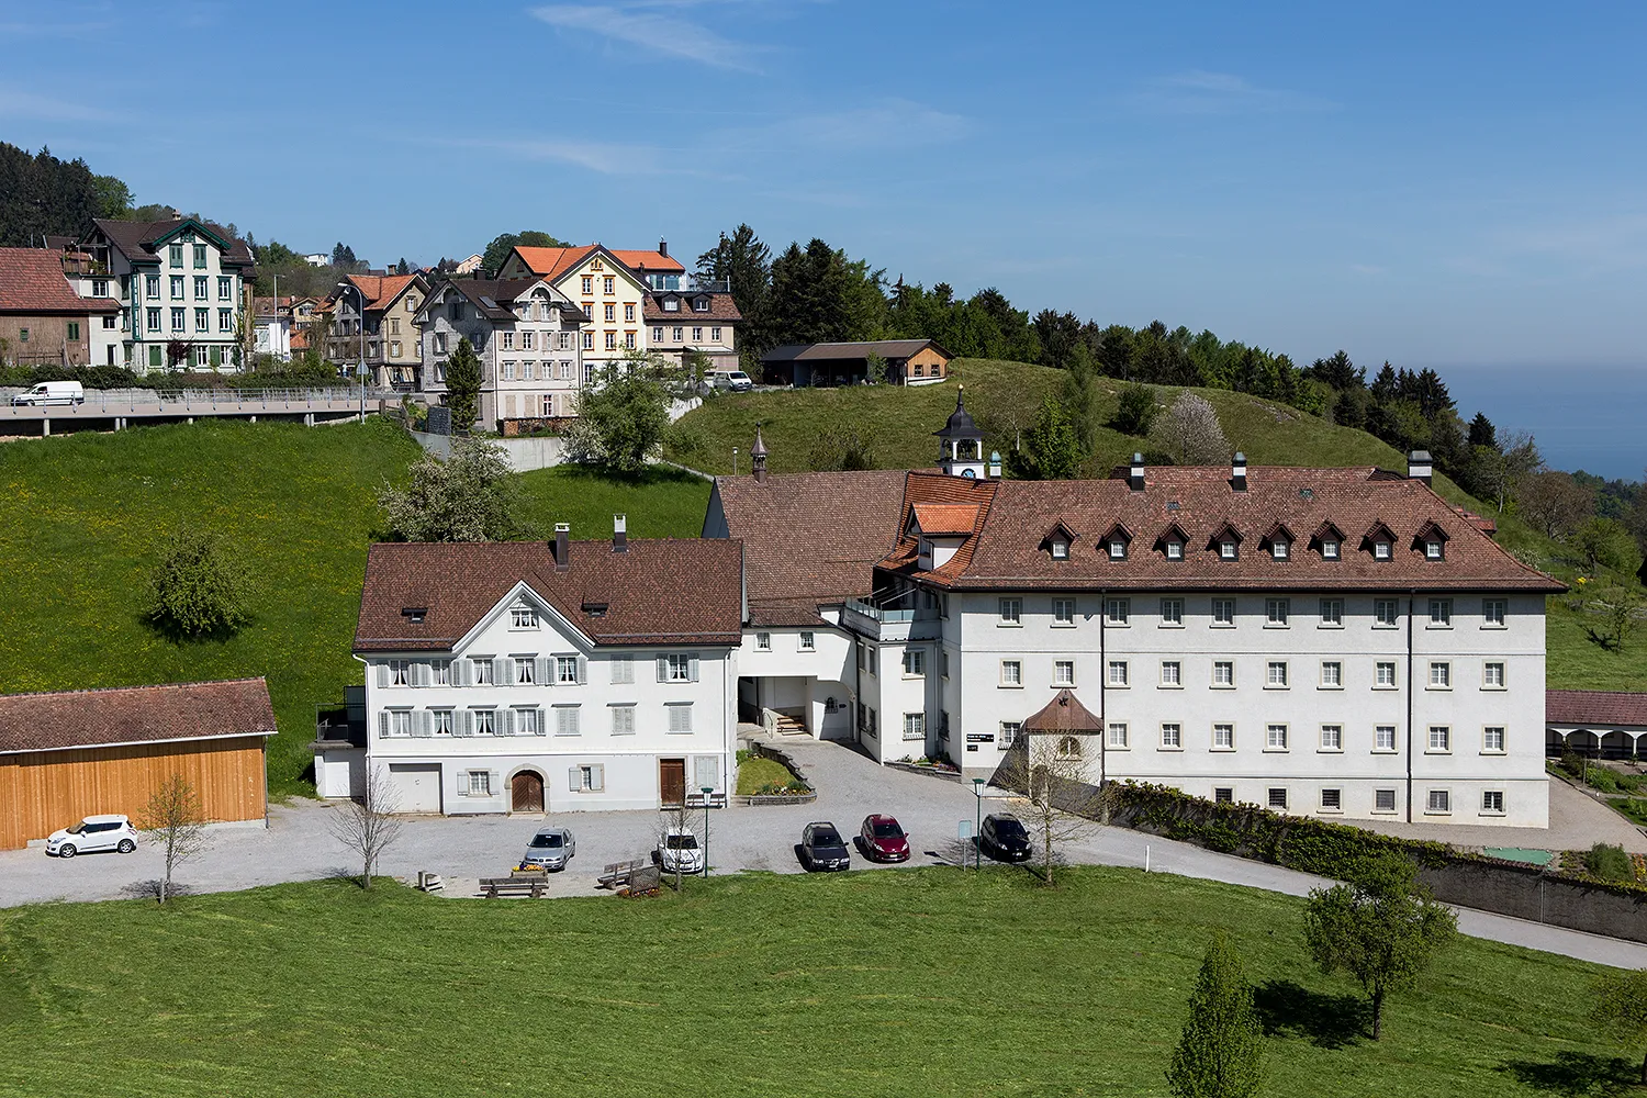
[[[0,138],[377,263],[525,227],[690,260],[748,221],[1301,361],[1622,367],[1644,30],[1639,3],[0,0]]]

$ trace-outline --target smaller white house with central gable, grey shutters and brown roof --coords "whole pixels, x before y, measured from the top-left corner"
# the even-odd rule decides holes
[[[656,808],[726,792],[743,547],[374,545],[354,654],[364,764],[400,812]],[[356,764],[359,765],[359,764]],[[318,759],[351,795],[348,752]],[[356,790],[357,792],[357,790]]]

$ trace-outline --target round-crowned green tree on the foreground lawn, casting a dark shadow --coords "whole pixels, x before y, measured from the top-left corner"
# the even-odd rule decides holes
[[[1458,935],[1458,917],[1418,884],[1400,854],[1357,859],[1344,884],[1309,892],[1304,942],[1321,971],[1360,981],[1372,1006],[1372,1039],[1383,1035],[1383,1001],[1410,988]]]

